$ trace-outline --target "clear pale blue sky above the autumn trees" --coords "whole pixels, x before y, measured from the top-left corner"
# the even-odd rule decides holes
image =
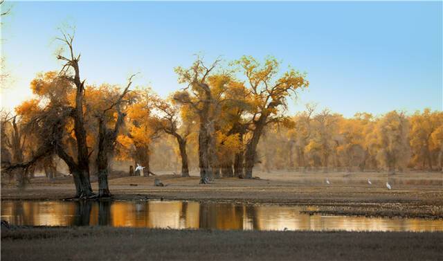
[[[11,78],[3,107],[31,97],[36,73],[60,69],[57,28],[76,27],[89,84],[125,84],[141,72],[161,96],[181,86],[174,66],[195,53],[226,61],[273,55],[308,73],[291,101],[352,116],[392,109],[442,110],[442,1],[433,2],[12,2],[1,55]]]

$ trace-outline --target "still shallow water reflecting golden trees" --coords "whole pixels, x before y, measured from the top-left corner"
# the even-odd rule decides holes
[[[307,215],[310,206],[194,201],[1,201],[1,219],[33,226],[300,231],[443,231],[443,220]]]

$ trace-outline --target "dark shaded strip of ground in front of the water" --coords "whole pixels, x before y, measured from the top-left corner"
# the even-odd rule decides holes
[[[443,233],[2,228],[1,260],[443,260]]]

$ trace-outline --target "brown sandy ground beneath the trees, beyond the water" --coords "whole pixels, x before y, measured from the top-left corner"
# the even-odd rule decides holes
[[[114,199],[186,199],[241,201],[254,204],[318,206],[317,213],[383,217],[443,218],[443,174],[408,172],[255,172],[260,179],[216,179],[199,185],[199,177],[181,178],[159,173],[165,187],[155,187],[154,177],[110,179]],[[328,185],[325,180],[329,179]],[[368,179],[372,185],[368,184]],[[392,190],[385,186],[386,181]],[[97,183],[93,183],[97,190]],[[35,178],[25,190],[3,186],[1,199],[64,199],[72,197],[71,178],[48,181]]]

